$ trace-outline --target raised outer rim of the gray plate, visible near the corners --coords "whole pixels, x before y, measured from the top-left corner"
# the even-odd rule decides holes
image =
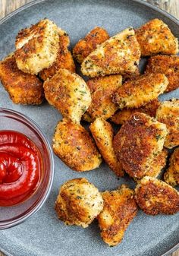
[[[13,17],[15,14],[20,13],[20,11],[24,11],[27,8],[30,8],[33,5],[37,5],[41,2],[46,2],[48,0],[33,0],[32,2],[29,2],[25,5],[20,6],[20,8],[17,8],[14,11],[11,11],[9,14],[7,14],[5,17],[2,17],[2,19],[0,19],[0,26],[5,23],[5,21],[8,21],[11,17]],[[105,0],[103,0],[105,2]],[[116,2],[121,2],[121,0],[114,0]],[[177,17],[174,17],[172,14],[169,14],[167,11],[162,10],[162,8],[159,8],[156,5],[152,5],[149,2],[143,1],[143,0],[130,0],[131,2],[135,2],[135,3],[139,3],[140,5],[144,5],[150,9],[152,9],[153,11],[157,11],[161,14],[163,14],[165,17],[168,17],[171,21],[173,21],[175,24],[177,24],[178,28],[179,28],[179,19],[177,19]],[[78,2],[78,0],[76,0],[76,2]],[[87,2],[86,0],[84,0],[84,2]],[[165,251],[164,254],[162,254],[161,256],[167,256],[168,254],[171,254],[172,252],[176,251],[179,248],[179,242],[174,245],[172,248],[170,248],[168,251]],[[0,245],[0,251],[2,251],[3,254],[7,255],[7,256],[14,256],[13,254],[11,254],[10,252],[6,251],[4,248],[2,248],[2,246]]]

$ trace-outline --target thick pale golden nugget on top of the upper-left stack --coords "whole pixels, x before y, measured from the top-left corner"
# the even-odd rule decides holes
[[[58,27],[48,19],[20,30],[15,43],[17,67],[30,74],[49,68],[57,58],[58,42]]]

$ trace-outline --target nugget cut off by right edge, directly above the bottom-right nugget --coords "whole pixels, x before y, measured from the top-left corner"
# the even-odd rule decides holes
[[[164,180],[171,186],[179,185],[179,148],[171,155],[170,166],[165,172]]]

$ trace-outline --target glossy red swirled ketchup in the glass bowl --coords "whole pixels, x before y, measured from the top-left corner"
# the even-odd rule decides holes
[[[39,184],[41,166],[33,141],[17,131],[0,131],[0,206],[29,198]]]

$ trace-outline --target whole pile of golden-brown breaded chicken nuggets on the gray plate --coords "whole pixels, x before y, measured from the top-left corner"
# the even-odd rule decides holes
[[[173,188],[179,185],[179,100],[158,99],[179,87],[178,41],[154,19],[111,37],[95,27],[72,53],[69,45],[68,33],[48,19],[39,21],[17,34],[15,51],[0,62],[0,79],[14,103],[39,105],[45,97],[61,112],[52,148],[67,166],[85,172],[105,160],[115,175],[127,173],[137,182],[134,190],[121,185],[99,192],[81,178],[60,188],[58,218],[83,228],[96,218],[102,239],[114,246],[138,207],[150,215],[179,211]],[[147,65],[140,74],[143,57]],[[87,81],[76,73],[74,59]],[[90,123],[89,131],[82,121]]]

